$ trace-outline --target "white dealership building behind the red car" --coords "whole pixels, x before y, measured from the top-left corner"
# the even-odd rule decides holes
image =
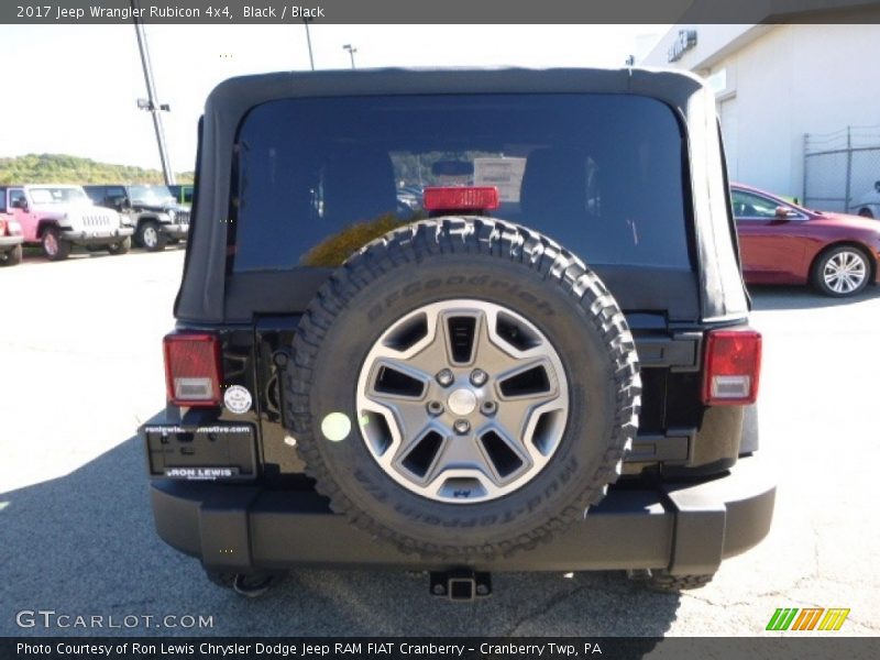
[[[638,64],[706,78],[732,180],[820,208],[853,208],[880,179],[880,14],[855,9],[798,20],[826,19],[678,24]],[[878,148],[847,152],[847,142]],[[805,147],[823,153],[805,158]]]

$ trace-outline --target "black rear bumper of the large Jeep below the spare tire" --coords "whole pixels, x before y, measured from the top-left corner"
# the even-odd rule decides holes
[[[552,541],[474,563],[481,571],[581,571],[667,568],[713,573],[723,559],[767,536],[776,486],[757,457],[726,476],[656,488],[617,486]],[[155,480],[156,529],[172,547],[210,569],[360,568],[444,570],[442,561],[403,553],[333,514],[314,491]]]

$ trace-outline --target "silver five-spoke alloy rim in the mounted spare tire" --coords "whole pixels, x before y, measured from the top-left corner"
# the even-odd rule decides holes
[[[394,481],[429,499],[485,502],[530,482],[569,414],[562,361],[517,312],[483,300],[398,319],[360,371],[364,442]]]

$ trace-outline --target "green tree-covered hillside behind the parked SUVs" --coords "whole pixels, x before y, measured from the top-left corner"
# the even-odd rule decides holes
[[[191,184],[193,173],[176,175],[178,184]],[[111,165],[66,154],[28,154],[0,158],[0,184],[162,184],[158,169]]]

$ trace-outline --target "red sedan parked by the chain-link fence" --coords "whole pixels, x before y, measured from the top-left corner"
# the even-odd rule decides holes
[[[730,186],[730,196],[747,283],[810,283],[844,297],[877,282],[877,220],[805,209],[740,184]]]

